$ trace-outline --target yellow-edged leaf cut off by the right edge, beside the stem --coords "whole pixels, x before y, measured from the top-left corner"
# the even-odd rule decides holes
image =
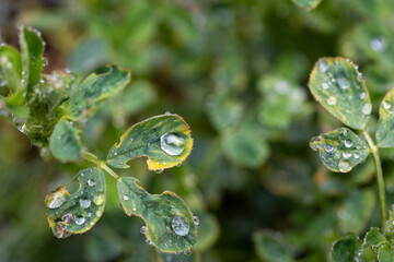
[[[376,126],[376,142],[380,147],[394,147],[394,88],[383,98],[379,107],[379,121]]]

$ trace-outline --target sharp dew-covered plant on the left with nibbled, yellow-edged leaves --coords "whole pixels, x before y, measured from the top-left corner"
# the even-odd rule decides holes
[[[113,169],[128,168],[130,159],[146,156],[149,170],[158,172],[181,165],[189,155],[193,139],[187,123],[177,115],[165,114],[128,129],[114,144],[105,160],[88,152],[81,139],[83,127],[108,97],[130,81],[130,72],[115,66],[90,74],[82,82],[68,71],[43,74],[45,44],[39,32],[20,26],[21,52],[0,47],[0,109],[44,157],[61,162],[85,159],[95,167],[83,169],[45,199],[49,227],[58,238],[91,229],[104,212],[104,171],[117,182],[123,210],[141,217],[141,231],[158,250],[190,252],[197,240],[198,218],[175,193],[150,194],[134,177],[119,177]],[[80,83],[79,83],[80,82]]]

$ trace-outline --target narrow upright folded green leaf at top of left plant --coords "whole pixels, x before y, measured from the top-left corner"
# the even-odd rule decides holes
[[[43,71],[44,41],[39,35],[39,32],[25,26],[20,29],[22,87],[27,96],[38,83]]]

